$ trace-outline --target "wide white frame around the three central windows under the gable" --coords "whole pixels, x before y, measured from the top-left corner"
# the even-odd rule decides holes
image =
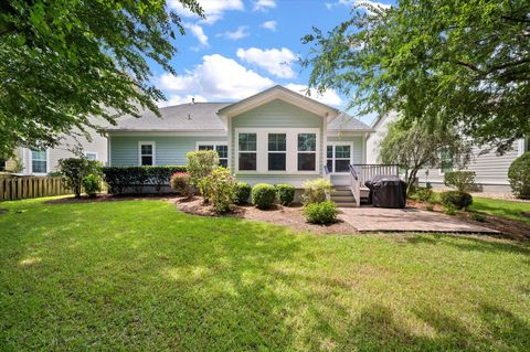
[[[321,156],[321,129],[320,128],[267,128],[267,127],[235,127],[234,129],[235,147],[234,170],[239,174],[298,174],[298,175],[318,175],[320,174],[320,156]],[[256,170],[240,170],[240,134],[256,134]],[[268,134],[286,134],[287,136],[287,160],[285,171],[268,171]],[[316,134],[317,150],[316,170],[298,171],[298,134]]]

